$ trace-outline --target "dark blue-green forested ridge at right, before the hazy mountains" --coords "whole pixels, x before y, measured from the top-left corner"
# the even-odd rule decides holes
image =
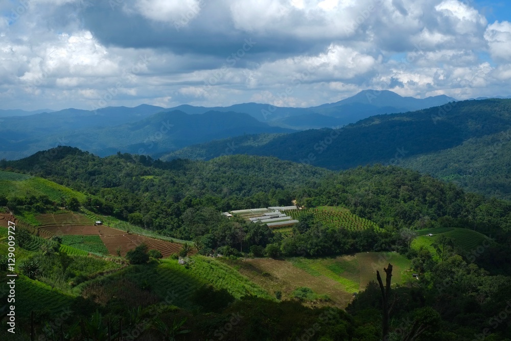
[[[319,129],[273,136],[238,137],[190,146],[162,160],[210,160],[222,153],[275,156],[332,170],[381,163],[400,165],[456,180],[471,191],[511,198],[506,148],[511,100],[451,102],[429,109],[373,116],[342,129]]]

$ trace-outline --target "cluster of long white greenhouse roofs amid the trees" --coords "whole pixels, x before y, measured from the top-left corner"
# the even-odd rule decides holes
[[[292,225],[298,222],[292,217],[282,213],[281,211],[297,210],[296,206],[272,206],[266,209],[249,209],[249,210],[235,210],[224,212],[228,217],[233,214],[238,214],[249,221],[256,223],[266,223],[269,228],[280,228],[282,226]]]

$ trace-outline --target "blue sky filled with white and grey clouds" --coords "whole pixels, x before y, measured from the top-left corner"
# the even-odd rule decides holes
[[[0,109],[511,95],[511,2],[2,0]]]

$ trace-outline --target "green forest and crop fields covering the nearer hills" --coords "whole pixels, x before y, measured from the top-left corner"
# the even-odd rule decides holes
[[[486,340],[511,336],[505,323],[489,322],[511,288],[508,201],[391,166],[336,173],[242,155],[165,163],[68,147],[50,154],[33,177],[19,173],[33,170],[37,155],[8,162],[3,173],[2,210],[34,233],[16,251],[20,335],[30,332],[33,310],[37,335],[48,339],[107,339],[108,329],[116,338],[122,324],[125,336],[136,330],[141,339],[377,341],[374,281],[391,263],[389,339],[472,340],[489,326]],[[47,184],[38,176],[60,185],[15,190]],[[44,194],[59,186],[60,198]],[[292,200],[305,209],[285,235],[220,213]],[[160,259],[142,245],[104,256],[96,236],[35,235],[51,219],[79,224],[79,213],[190,242]],[[2,255],[6,242],[0,233]],[[60,321],[64,308],[72,313]]]

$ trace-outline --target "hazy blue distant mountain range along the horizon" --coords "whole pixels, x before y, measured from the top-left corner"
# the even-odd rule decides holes
[[[416,110],[453,100],[447,96],[415,99],[389,91],[365,90],[336,103],[310,108],[244,103],[229,107],[69,108],[37,110],[31,115],[7,110],[4,114],[12,115],[0,119],[0,158],[21,158],[58,145],[79,147],[100,156],[122,151],[157,157],[193,144],[243,134],[341,127],[378,113]]]

